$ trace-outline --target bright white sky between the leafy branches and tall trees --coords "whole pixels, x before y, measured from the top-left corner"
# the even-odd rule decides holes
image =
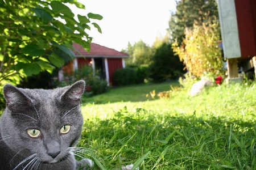
[[[166,35],[170,11],[176,9],[175,0],[78,1],[85,5],[86,10],[74,11],[71,8],[75,14],[92,12],[103,16],[102,20],[93,20],[100,25],[102,34],[93,25],[91,32],[88,31],[94,38],[92,42],[119,51],[126,49],[128,42],[134,45],[142,40],[152,45],[157,36]]]

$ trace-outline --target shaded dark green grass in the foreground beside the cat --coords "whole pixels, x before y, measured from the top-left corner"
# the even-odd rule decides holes
[[[148,151],[140,169],[255,169],[254,129],[239,118],[123,108],[113,118],[86,121],[80,145],[95,150],[107,169],[134,163]]]

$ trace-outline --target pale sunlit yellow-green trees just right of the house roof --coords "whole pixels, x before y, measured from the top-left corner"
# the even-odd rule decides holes
[[[122,50],[129,54],[129,58],[126,58],[126,63],[134,63],[136,65],[149,64],[151,62],[152,49],[145,44],[142,40],[135,42],[134,45],[128,43],[127,49]]]

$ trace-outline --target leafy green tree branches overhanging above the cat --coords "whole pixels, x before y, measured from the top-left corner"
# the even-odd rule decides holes
[[[66,56],[75,56],[72,42],[90,50],[92,37],[86,29],[93,25],[101,33],[91,19],[101,20],[102,16],[89,13],[77,15],[76,20],[65,3],[85,9],[76,0],[0,0],[0,87],[5,83],[19,84],[26,76],[45,70],[51,73],[54,67],[61,67]]]

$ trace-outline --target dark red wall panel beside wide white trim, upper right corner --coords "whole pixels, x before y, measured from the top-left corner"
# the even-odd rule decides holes
[[[225,0],[224,0],[225,1]],[[235,0],[242,57],[256,55],[256,1]]]

